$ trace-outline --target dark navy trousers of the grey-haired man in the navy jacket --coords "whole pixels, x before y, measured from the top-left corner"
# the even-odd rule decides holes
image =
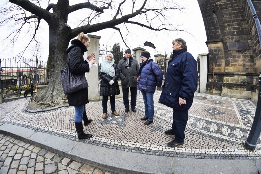
[[[175,133],[175,141],[177,143],[184,142],[185,128],[189,119],[189,110],[173,109],[172,131]]]

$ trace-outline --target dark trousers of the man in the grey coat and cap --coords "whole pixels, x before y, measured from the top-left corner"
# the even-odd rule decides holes
[[[131,89],[131,108],[135,108],[136,106],[136,99],[137,99],[137,88],[132,88]],[[126,109],[129,109],[129,88],[122,88],[122,95],[123,95],[123,104]]]

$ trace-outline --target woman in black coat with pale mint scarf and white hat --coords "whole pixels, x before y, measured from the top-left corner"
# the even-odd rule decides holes
[[[107,102],[110,96],[111,113],[119,116],[115,109],[115,95],[120,94],[119,90],[119,69],[114,63],[113,54],[107,53],[102,64],[99,66],[99,77],[102,79],[100,84],[100,95],[102,95],[102,118],[107,117]]]

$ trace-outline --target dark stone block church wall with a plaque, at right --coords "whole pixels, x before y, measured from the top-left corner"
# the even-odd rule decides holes
[[[198,0],[198,3],[209,48],[206,93],[212,93],[214,64],[214,95],[256,102],[261,53],[255,21],[247,0]],[[254,6],[259,13],[261,1],[256,1]],[[243,43],[243,47],[239,47],[241,50],[231,45],[239,43]]]

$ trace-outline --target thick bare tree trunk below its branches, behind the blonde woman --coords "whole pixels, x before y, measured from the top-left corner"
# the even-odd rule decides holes
[[[68,102],[62,88],[60,71],[66,66],[67,54],[65,51],[68,48],[70,35],[71,28],[65,23],[59,23],[49,28],[49,84],[37,95],[35,100],[39,103],[44,104],[48,101],[55,106]]]

